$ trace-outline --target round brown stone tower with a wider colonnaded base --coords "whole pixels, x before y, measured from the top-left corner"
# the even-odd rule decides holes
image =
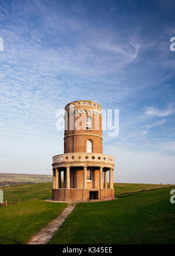
[[[114,158],[103,154],[101,106],[93,101],[74,101],[65,106],[64,118],[64,154],[53,157],[53,200],[114,199]]]

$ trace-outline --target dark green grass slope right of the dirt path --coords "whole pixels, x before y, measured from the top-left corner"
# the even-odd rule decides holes
[[[174,244],[174,187],[79,203],[50,244]]]

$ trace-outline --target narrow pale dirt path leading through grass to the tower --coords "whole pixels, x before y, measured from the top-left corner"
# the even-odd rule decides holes
[[[74,208],[75,205],[69,204],[56,219],[48,224],[47,227],[44,227],[36,235],[33,235],[27,244],[47,244]]]

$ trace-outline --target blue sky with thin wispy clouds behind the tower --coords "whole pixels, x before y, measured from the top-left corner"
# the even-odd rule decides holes
[[[56,112],[74,100],[120,110],[103,132],[114,182],[175,183],[175,3],[0,1],[0,172],[51,174]]]

